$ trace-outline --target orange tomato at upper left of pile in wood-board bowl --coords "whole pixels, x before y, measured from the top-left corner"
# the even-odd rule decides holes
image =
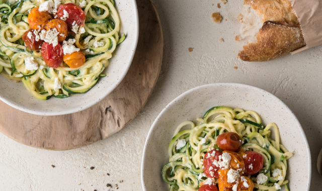
[[[42,28],[50,21],[52,16],[48,12],[38,11],[38,7],[30,11],[28,15],[28,22],[31,29],[36,29],[37,31],[42,30]]]

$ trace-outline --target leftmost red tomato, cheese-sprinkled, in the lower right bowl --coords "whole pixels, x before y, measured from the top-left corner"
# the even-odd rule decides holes
[[[213,149],[212,151],[208,151],[205,154],[205,157],[203,158],[203,170],[206,174],[207,177],[210,178],[219,178],[219,174],[218,174],[218,170],[219,170],[219,166],[216,166],[213,164],[214,160],[219,161],[219,155],[221,155],[222,153],[217,150],[217,149]]]

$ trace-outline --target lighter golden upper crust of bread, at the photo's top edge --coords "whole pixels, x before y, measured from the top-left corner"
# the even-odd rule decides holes
[[[244,0],[244,4],[251,5],[258,15],[265,21],[286,22],[289,25],[298,23],[289,0]]]

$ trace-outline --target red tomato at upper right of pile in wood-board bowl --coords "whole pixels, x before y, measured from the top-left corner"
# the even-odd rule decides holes
[[[66,19],[65,22],[67,23],[67,25],[69,25],[69,27],[72,25],[74,21],[76,22],[75,24],[77,24],[78,26],[84,26],[86,15],[82,10],[82,8],[72,3],[61,5],[59,6],[59,9],[55,15],[55,18],[60,19],[60,17],[63,17],[64,10],[68,13],[68,18]]]

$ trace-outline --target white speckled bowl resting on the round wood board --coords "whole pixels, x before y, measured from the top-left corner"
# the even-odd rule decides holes
[[[115,54],[113,53],[110,59],[110,65],[103,72],[108,72],[107,77],[100,78],[92,89],[65,99],[51,98],[42,101],[33,97],[21,82],[16,83],[0,75],[0,100],[24,112],[54,116],[85,110],[108,96],[121,83],[131,65],[139,32],[135,0],[120,1],[116,4],[116,9],[121,19],[121,33],[127,36],[116,48]]]

